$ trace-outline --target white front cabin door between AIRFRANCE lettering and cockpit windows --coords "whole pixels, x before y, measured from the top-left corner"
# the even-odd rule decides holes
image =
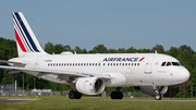
[[[145,69],[145,74],[151,74],[151,65],[154,62],[154,57],[149,57],[146,61],[146,69]]]

